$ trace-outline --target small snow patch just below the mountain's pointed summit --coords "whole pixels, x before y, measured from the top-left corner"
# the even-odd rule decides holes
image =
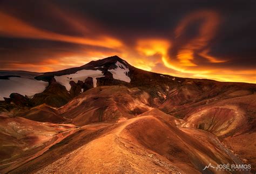
[[[126,68],[126,66],[119,61],[116,62],[116,66],[117,68],[108,70],[113,74],[113,78],[130,83],[131,79],[126,75],[130,71],[129,68]]]

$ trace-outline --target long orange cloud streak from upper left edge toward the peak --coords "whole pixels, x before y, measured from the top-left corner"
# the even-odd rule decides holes
[[[23,22],[22,20],[9,16],[8,14],[1,11],[0,23],[0,35],[2,36],[65,41],[69,43],[85,44],[92,46],[104,46],[109,48],[122,46],[121,41],[109,36],[99,36],[98,39],[91,39],[83,37],[66,36],[63,34],[38,29],[36,27],[31,26],[30,24]]]

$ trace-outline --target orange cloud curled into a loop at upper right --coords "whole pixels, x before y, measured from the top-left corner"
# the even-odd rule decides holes
[[[192,12],[187,15],[178,24],[175,30],[174,41],[179,40],[184,34],[188,25],[201,20],[197,36],[188,39],[184,45],[181,45],[178,51],[177,58],[184,66],[197,66],[194,64],[194,54],[199,54],[209,62],[225,62],[209,55],[210,48],[207,48],[210,40],[215,36],[219,27],[220,16],[217,12],[211,10],[201,10]]]

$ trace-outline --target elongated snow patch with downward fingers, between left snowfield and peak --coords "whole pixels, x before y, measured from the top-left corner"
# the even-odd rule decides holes
[[[60,85],[63,85],[66,87],[66,90],[70,91],[71,85],[69,84],[70,81],[78,82],[85,81],[86,78],[91,77],[93,80],[93,87],[97,87],[97,79],[103,77],[103,73],[100,70],[91,70],[91,69],[83,69],[80,71],[77,71],[74,74],[66,74],[66,75],[60,75],[60,76],[54,76],[56,81],[60,83]]]

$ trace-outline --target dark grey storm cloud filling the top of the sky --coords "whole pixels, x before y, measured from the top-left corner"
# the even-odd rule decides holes
[[[253,33],[256,27],[255,1],[54,0],[48,3],[32,0],[5,0],[1,2],[3,10],[42,29],[79,35],[79,32],[72,29],[63,19],[53,13],[52,4],[62,8],[63,12],[67,14],[70,12],[77,13],[82,18],[96,21],[106,30],[123,39],[152,35],[171,38],[173,37],[173,30],[183,17],[190,12],[201,9],[215,10],[222,15],[221,32],[218,33],[220,35],[227,38],[242,37],[241,35],[237,36],[236,32],[255,35]],[[200,22],[196,23],[194,27],[197,27],[196,25],[199,25]],[[187,30],[186,34],[192,35],[193,32],[196,31]]]

